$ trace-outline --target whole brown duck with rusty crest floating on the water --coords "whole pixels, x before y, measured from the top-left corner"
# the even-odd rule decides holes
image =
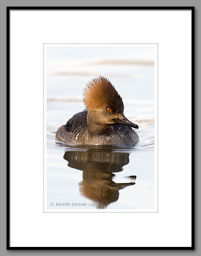
[[[138,134],[132,130],[138,129],[138,125],[124,116],[122,98],[107,78],[91,80],[83,96],[86,109],[57,130],[58,141],[71,146],[132,147],[138,143]]]

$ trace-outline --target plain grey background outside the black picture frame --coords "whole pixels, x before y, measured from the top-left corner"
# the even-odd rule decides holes
[[[154,251],[154,250],[141,250],[141,251],[6,251],[6,129],[9,131],[9,127],[6,128],[6,6],[195,6],[195,101],[196,101],[196,111],[195,111],[195,135],[196,135],[196,145],[195,145],[195,187],[196,187],[196,197],[195,197],[195,251]],[[201,200],[198,195],[201,195],[201,187],[199,183],[201,182],[201,157],[200,155],[200,145],[201,136],[198,131],[201,129],[201,114],[200,114],[200,101],[201,97],[201,74],[199,70],[201,69],[201,1],[200,0],[1,0],[0,1],[0,129],[1,129],[1,143],[0,143],[0,255],[15,254],[15,255],[201,255],[201,221],[199,216],[201,216]]]

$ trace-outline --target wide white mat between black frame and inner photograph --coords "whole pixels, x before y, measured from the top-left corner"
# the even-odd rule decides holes
[[[191,10],[10,14],[10,246],[190,247]],[[158,213],[43,213],[47,42],[158,43]]]

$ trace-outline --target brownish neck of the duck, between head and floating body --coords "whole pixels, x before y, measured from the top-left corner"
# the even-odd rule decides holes
[[[111,134],[113,125],[102,125],[98,123],[98,117],[93,112],[87,113],[87,130],[91,134]]]

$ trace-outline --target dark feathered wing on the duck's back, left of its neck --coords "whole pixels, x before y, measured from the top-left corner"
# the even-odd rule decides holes
[[[87,125],[87,110],[79,112],[73,115],[72,118],[64,126],[68,132],[74,132],[77,128],[86,127]]]

